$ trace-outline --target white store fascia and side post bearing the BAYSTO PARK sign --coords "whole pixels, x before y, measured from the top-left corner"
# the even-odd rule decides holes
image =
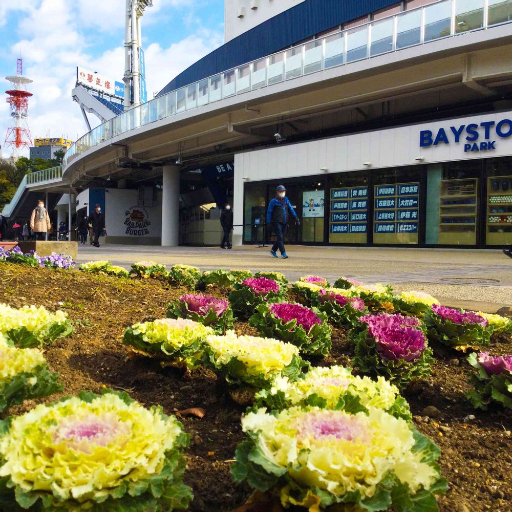
[[[422,132],[426,132],[423,134],[423,147],[420,146]],[[477,134],[478,138],[475,138]],[[510,111],[429,121],[239,153],[234,156],[233,214],[237,227],[234,228],[233,243],[242,243],[244,183],[247,181],[275,180],[278,185],[281,181],[290,183],[294,177],[352,172],[367,167],[380,169],[510,155]]]

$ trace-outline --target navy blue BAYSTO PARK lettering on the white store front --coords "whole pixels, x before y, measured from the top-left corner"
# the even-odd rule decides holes
[[[422,130],[419,133],[420,147],[439,144],[464,144],[464,153],[492,151],[499,139],[512,136],[512,120],[483,121],[480,124],[460,124],[449,128],[440,128],[437,133]]]

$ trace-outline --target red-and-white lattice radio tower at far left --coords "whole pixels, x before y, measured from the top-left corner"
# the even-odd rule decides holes
[[[32,93],[27,91],[27,84],[32,83],[32,80],[23,76],[23,59],[16,60],[16,76],[6,76],[5,79],[12,83],[12,89],[6,91],[6,94],[14,122],[14,126],[7,129],[5,145],[12,147],[12,155],[16,160],[21,148],[29,147],[29,143],[32,145],[28,125],[29,98]]]

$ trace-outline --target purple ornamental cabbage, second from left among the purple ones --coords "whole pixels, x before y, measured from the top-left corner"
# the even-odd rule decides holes
[[[229,294],[233,313],[241,320],[254,314],[257,306],[283,300],[283,290],[273,279],[249,278],[237,283]]]

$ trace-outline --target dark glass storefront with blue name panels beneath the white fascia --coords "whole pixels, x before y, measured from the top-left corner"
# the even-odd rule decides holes
[[[301,219],[288,243],[498,248],[512,244],[512,157],[244,184],[244,243],[271,242],[284,184]]]

